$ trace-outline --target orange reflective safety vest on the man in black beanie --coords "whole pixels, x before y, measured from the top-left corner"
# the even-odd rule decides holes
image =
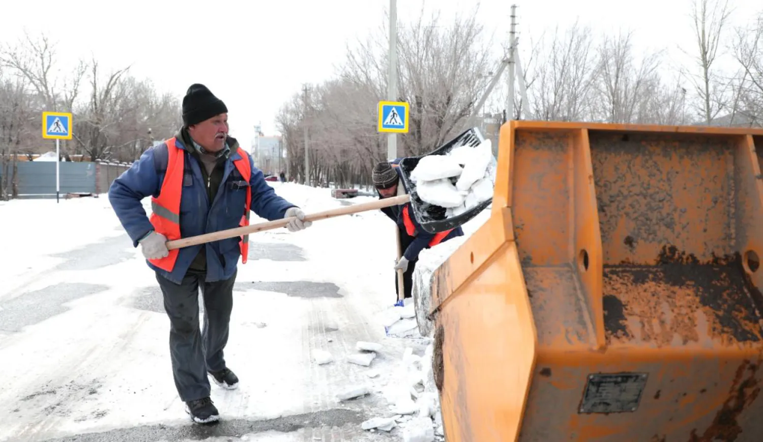
[[[183,189],[183,169],[185,168],[185,154],[182,149],[175,145],[175,137],[167,140],[167,171],[164,175],[162,189],[159,192],[159,198],[151,198],[151,208],[153,213],[149,220],[158,234],[163,234],[167,240],[180,239],[180,198]],[[240,147],[238,154],[240,160],[233,161],[243,179],[249,182],[252,175],[252,169],[249,163],[249,156]],[[240,227],[249,225],[249,211],[252,204],[252,188],[246,186],[246,204],[243,216],[239,223]],[[246,256],[249,255],[249,235],[241,237],[240,249],[241,260],[246,263]],[[149,260],[159,269],[172,272],[175,267],[175,261],[178,259],[179,249],[169,250],[169,255],[158,260]]]

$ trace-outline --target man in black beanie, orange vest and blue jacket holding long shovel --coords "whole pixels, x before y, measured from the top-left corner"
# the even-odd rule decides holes
[[[208,376],[225,389],[239,379],[227,367],[233,284],[249,238],[233,237],[167,250],[167,240],[249,224],[250,211],[270,221],[292,218],[289,231],[309,227],[300,208],[275,194],[252,157],[228,135],[227,107],[204,85],[188,88],[183,126],[175,137],[146,150],[114,180],[108,198],[134,247],[156,272],[169,316],[172,376],[193,421],[217,421]],[[151,197],[146,216],[141,200]],[[198,292],[204,295],[199,330]]]

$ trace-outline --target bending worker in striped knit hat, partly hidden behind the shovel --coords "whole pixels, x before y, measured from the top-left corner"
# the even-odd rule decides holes
[[[376,192],[379,198],[391,198],[398,195],[399,186],[404,186],[400,177],[400,169],[398,164],[400,158],[392,161],[382,161],[378,163],[373,170],[373,182],[376,188]],[[401,189],[403,190],[404,187]],[[403,250],[403,256],[400,261],[394,265],[395,278],[394,287],[395,295],[398,295],[398,276],[397,270],[403,269],[403,284],[405,285],[404,297],[410,298],[410,289],[413,286],[414,269],[416,268],[416,262],[419,260],[419,253],[423,249],[434,247],[437,244],[450,240],[455,237],[461,237],[464,231],[461,227],[456,227],[447,233],[443,234],[430,234],[421,228],[421,225],[416,221],[414,217],[414,208],[410,205],[410,202],[404,205],[393,205],[391,207],[381,208],[381,211],[385,213],[395,224],[398,224],[398,232],[400,234],[400,245]],[[397,297],[395,298],[397,300]]]

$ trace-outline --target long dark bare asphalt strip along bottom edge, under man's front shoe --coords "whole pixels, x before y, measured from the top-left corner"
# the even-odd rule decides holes
[[[360,424],[365,416],[359,411],[345,408],[305,413],[304,415],[282,416],[265,421],[244,419],[221,420],[212,424],[200,425],[190,421],[182,427],[169,427],[163,424],[124,428],[102,433],[77,434],[76,436],[49,439],[47,442],[127,442],[134,440],[204,440],[208,437],[239,437],[241,434],[278,431],[291,433],[302,428],[343,427],[346,424]]]

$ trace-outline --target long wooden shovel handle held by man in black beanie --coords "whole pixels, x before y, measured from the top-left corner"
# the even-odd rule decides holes
[[[377,210],[380,208],[390,207],[393,205],[401,205],[410,201],[410,195],[400,195],[393,198],[382,198],[378,201],[364,202],[362,204],[349,205],[347,207],[333,208],[327,211],[319,211],[317,213],[304,216],[304,221],[317,221],[327,218],[335,218],[342,215],[349,215],[352,213],[359,213],[361,211]],[[195,246],[196,244],[209,243],[211,241],[224,240],[226,238],[240,237],[246,234],[253,234],[255,232],[269,231],[278,227],[286,227],[289,221],[296,219],[295,217],[282,218],[275,221],[266,221],[258,224],[251,224],[245,227],[234,227],[224,231],[212,232],[211,234],[203,234],[195,237],[180,238],[179,240],[167,241],[167,249],[180,249],[182,247]]]

